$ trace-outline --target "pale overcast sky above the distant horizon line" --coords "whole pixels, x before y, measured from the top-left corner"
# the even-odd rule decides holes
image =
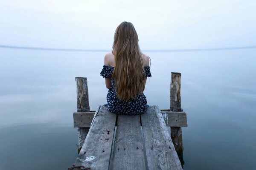
[[[255,0],[0,0],[0,45],[110,50],[122,21],[142,50],[256,45]]]

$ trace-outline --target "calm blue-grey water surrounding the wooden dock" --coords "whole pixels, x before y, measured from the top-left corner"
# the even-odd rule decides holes
[[[185,170],[256,167],[256,50],[147,53],[149,105],[169,108],[171,72],[182,74]],[[65,170],[77,156],[75,77],[90,109],[106,102],[104,53],[0,49],[0,170]]]

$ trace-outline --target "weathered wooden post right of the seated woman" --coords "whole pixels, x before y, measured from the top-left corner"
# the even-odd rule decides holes
[[[182,112],[181,109],[181,93],[180,93],[180,73],[172,72],[171,84],[170,84],[170,111]],[[172,142],[175,146],[175,150],[180,157],[180,161],[183,160],[183,142],[181,127],[171,127]],[[183,162],[181,161],[181,164]]]

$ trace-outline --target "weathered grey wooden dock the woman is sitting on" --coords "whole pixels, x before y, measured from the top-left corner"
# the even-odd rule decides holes
[[[86,110],[73,113],[81,150],[69,170],[182,170],[176,152],[183,152],[182,143],[172,141],[182,142],[185,112],[149,106],[142,115],[116,115],[105,105],[89,111],[87,79],[76,77],[76,82],[78,111]],[[177,133],[171,136],[167,127],[176,128]]]

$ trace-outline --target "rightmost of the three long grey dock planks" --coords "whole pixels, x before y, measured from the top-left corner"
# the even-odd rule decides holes
[[[141,115],[148,170],[182,170],[171,136],[158,106]]]

